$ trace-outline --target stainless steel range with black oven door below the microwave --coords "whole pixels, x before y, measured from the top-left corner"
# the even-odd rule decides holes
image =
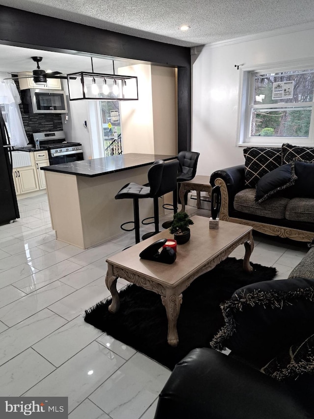
[[[84,160],[80,142],[67,142],[64,131],[50,131],[45,133],[33,133],[34,142],[39,141],[39,146],[48,150],[49,163],[77,162]]]

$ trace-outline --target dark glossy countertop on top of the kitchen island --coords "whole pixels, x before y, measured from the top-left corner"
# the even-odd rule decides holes
[[[102,157],[99,159],[81,160],[73,163],[46,166],[41,170],[57,173],[74,174],[77,176],[95,177],[131,168],[152,165],[156,160],[173,160],[177,156],[164,154],[128,153],[119,156]]]

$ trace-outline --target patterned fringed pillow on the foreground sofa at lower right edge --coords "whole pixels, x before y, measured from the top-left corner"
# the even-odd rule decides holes
[[[297,379],[302,374],[314,374],[314,335],[290,346],[263,366],[261,371],[279,381]]]

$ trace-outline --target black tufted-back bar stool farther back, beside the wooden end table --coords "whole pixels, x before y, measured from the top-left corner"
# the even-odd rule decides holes
[[[179,172],[177,174],[177,183],[184,182],[186,180],[192,180],[196,175],[197,162],[200,153],[196,151],[180,151],[178,154],[179,160]],[[178,211],[178,188],[173,191],[173,205],[164,204],[164,209],[173,209],[173,213],[176,214]],[[172,221],[166,221],[162,224],[163,228],[169,228]]]

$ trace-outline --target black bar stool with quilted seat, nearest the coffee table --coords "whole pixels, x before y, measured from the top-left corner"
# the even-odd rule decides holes
[[[135,230],[135,243],[140,242],[139,199],[154,198],[155,231],[144,234],[143,240],[145,240],[159,232],[158,197],[172,192],[176,188],[178,168],[179,161],[177,160],[167,163],[163,160],[157,160],[148,170],[147,184],[128,183],[115,196],[115,199],[133,199],[134,221],[121,224],[121,228],[124,231]],[[134,223],[134,227],[131,229],[125,228],[124,226],[129,223]]]

